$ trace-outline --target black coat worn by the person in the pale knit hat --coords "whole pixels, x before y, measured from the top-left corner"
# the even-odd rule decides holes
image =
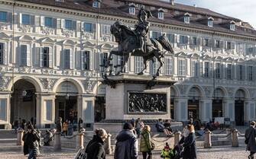
[[[86,153],[89,159],[105,159],[105,149],[102,138],[98,135],[94,135],[86,146]]]

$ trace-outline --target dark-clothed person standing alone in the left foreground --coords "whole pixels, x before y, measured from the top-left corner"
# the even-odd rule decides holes
[[[28,132],[24,134],[22,140],[24,141],[24,155],[28,154],[28,159],[36,159],[40,154],[38,143],[40,137],[32,125],[28,125]]]

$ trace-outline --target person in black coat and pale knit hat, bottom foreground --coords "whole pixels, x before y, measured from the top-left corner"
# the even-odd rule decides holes
[[[86,146],[87,158],[89,159],[105,159],[104,141],[108,138],[105,129],[96,129],[96,135]]]

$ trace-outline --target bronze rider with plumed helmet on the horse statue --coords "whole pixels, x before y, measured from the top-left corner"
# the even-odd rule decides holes
[[[147,40],[147,33],[148,28],[150,26],[149,22],[147,21],[148,17],[153,17],[151,14],[151,11],[146,11],[144,6],[141,6],[141,10],[138,13],[138,24],[135,24],[135,30],[139,41],[138,50],[141,50],[142,52],[146,51],[146,40]]]

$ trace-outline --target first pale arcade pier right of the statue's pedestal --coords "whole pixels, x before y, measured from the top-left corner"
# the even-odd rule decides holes
[[[187,121],[187,98],[178,98],[174,100],[174,118],[177,121]]]

